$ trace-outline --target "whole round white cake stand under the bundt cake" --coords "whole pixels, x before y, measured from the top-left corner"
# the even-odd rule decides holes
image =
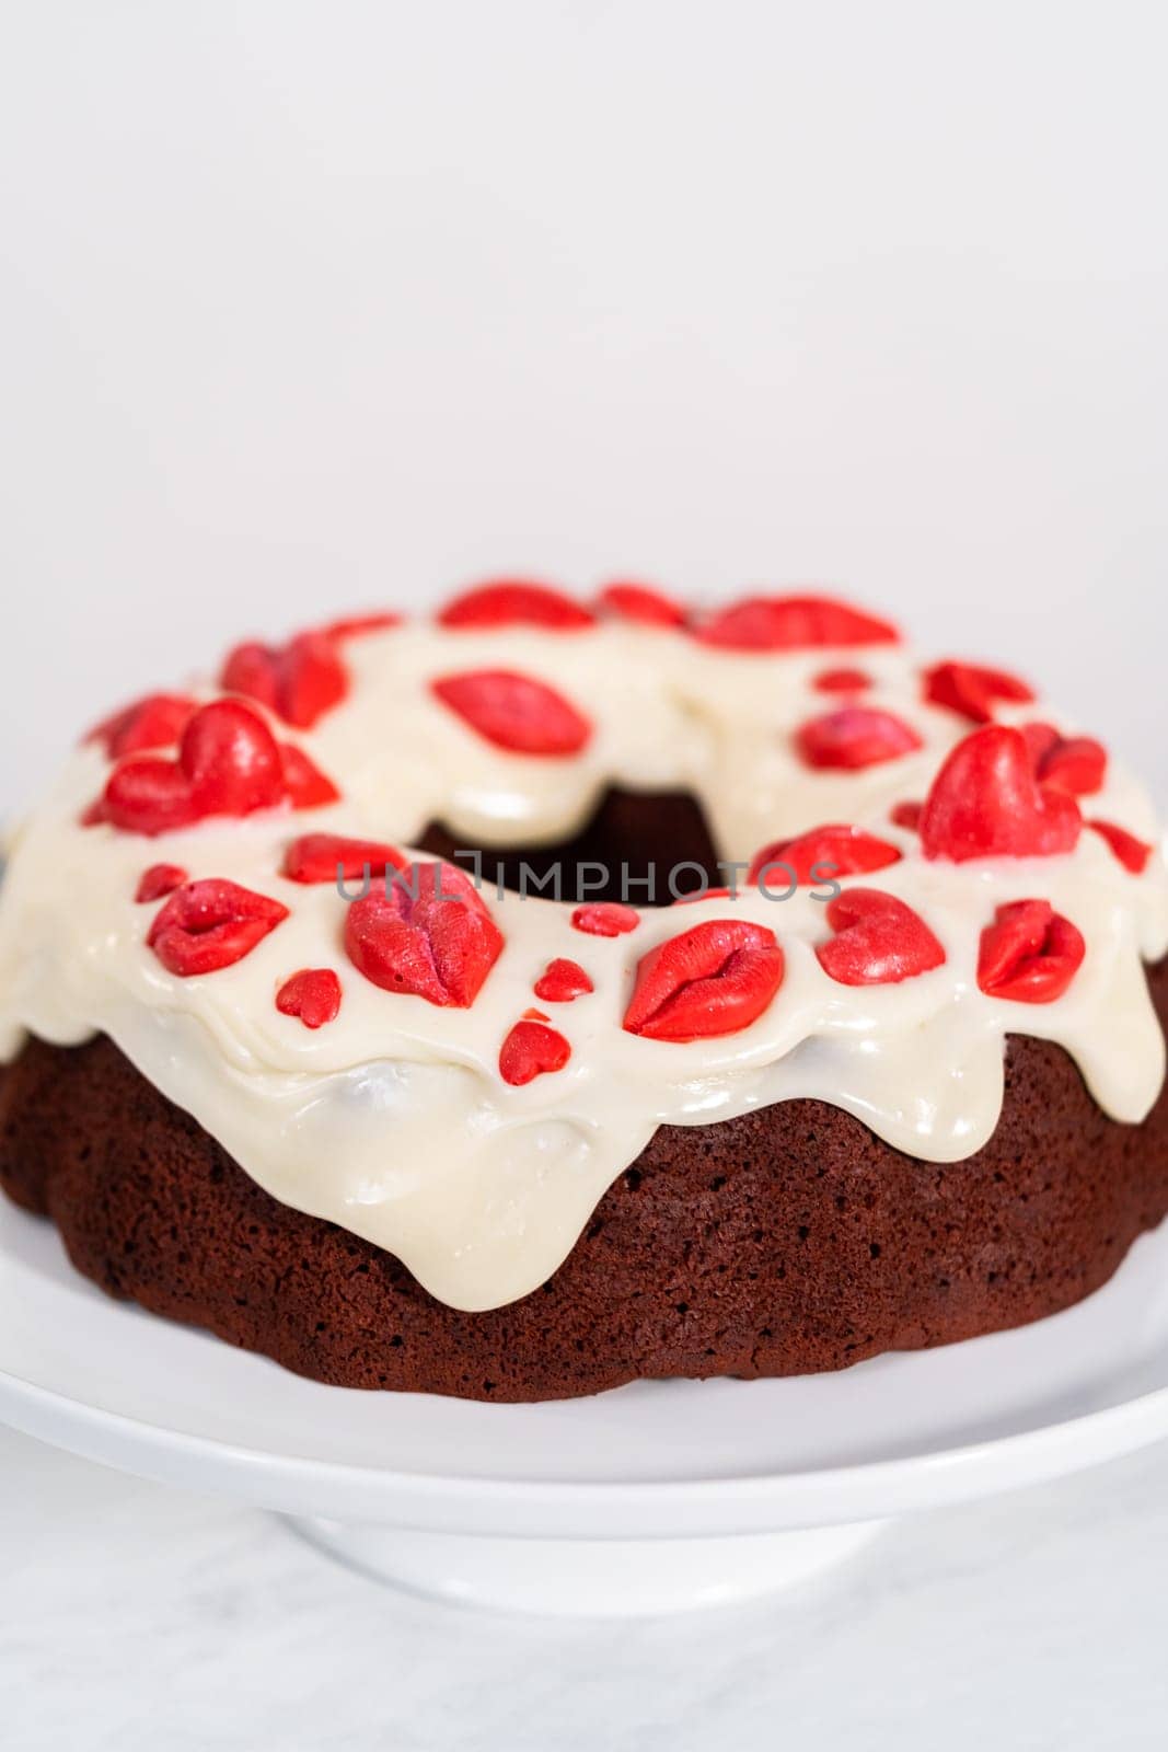
[[[405,1587],[552,1614],[793,1586],[891,1517],[1168,1435],[1168,1226],[1066,1314],[795,1381],[478,1405],[354,1393],[107,1300],[0,1200],[0,1417],[278,1510]]]

